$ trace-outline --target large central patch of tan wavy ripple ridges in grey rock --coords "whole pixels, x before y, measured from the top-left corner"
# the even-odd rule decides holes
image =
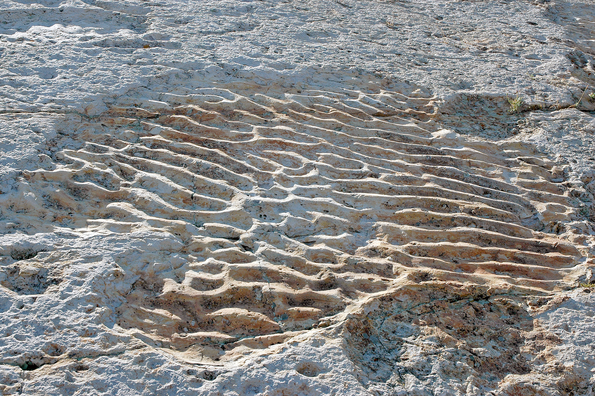
[[[469,285],[483,297],[569,288],[584,251],[552,233],[577,215],[562,169],[530,144],[462,139],[434,120],[437,104],[373,81],[139,90],[99,117],[65,115],[11,210],[29,233],[177,235],[171,251],[120,256],[146,264],[117,323],[201,362],[399,290],[454,301],[479,293]],[[60,282],[48,253],[15,252],[4,287]],[[45,275],[32,283],[26,268]]]

